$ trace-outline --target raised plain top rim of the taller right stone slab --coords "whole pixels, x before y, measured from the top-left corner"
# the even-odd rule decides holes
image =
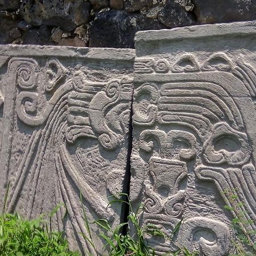
[[[177,27],[171,30],[147,30],[135,34],[135,49],[139,42],[154,42],[159,40],[182,40],[205,38],[210,36],[248,35],[256,34],[256,20],[246,22],[205,24],[190,27]]]

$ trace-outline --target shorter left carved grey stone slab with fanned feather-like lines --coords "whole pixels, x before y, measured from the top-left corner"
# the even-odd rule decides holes
[[[1,207],[26,217],[51,211],[74,249],[90,251],[90,223],[119,224],[133,91],[134,51],[0,47]],[[93,238],[97,227],[91,226]]]

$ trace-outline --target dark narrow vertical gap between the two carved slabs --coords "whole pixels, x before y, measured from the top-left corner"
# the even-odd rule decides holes
[[[133,89],[134,93],[134,89]],[[123,179],[123,190],[122,193],[126,194],[122,196],[122,200],[126,203],[122,203],[121,209],[121,223],[128,221],[128,215],[130,212],[128,197],[130,196],[130,182],[131,182],[131,151],[133,150],[133,93],[131,94],[131,110],[129,118],[129,133],[128,133],[128,147],[127,147],[127,160],[126,160],[126,170],[125,178]],[[121,233],[126,235],[128,233],[128,225],[123,226]]]

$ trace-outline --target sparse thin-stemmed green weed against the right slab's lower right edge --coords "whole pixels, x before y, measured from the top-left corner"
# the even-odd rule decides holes
[[[255,230],[250,230],[249,225],[253,224],[253,220],[247,220],[245,217],[246,210],[244,204],[238,200],[237,191],[226,189],[222,192],[229,205],[224,208],[236,213],[236,217],[232,219],[231,226],[236,237],[232,240],[232,245],[235,247],[238,254],[232,256],[253,256],[256,255],[256,242],[251,240],[251,235],[255,234]]]

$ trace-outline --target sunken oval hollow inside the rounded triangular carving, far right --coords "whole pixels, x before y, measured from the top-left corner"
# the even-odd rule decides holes
[[[241,148],[241,142],[233,135],[222,135],[216,138],[213,144],[215,151],[226,150],[228,152],[236,152]]]

